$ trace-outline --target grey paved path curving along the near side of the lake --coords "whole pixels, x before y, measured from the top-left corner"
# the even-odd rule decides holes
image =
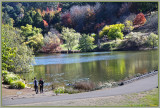
[[[87,99],[87,98],[98,98],[98,97],[108,97],[108,96],[116,96],[122,94],[130,94],[130,93],[138,93],[142,91],[148,91],[158,86],[158,74],[144,78],[141,80],[134,81],[133,83],[129,83],[123,86],[119,86],[116,88],[110,89],[102,89],[92,92],[78,93],[78,94],[65,94],[62,96],[42,96],[43,94],[39,94],[35,97],[22,97],[22,98],[8,98],[2,99],[2,106],[56,106],[54,104],[55,101],[65,101],[65,100],[75,100],[75,99]],[[42,97],[41,97],[42,96]],[[48,104],[50,102],[50,104]],[[53,102],[53,103],[52,103]]]

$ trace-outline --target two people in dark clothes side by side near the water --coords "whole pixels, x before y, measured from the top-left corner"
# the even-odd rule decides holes
[[[36,77],[34,77],[34,82],[33,83],[34,83],[35,92],[36,92],[36,94],[38,94],[38,81],[36,80]],[[40,93],[43,93],[43,84],[44,84],[44,81],[41,78],[39,80]]]

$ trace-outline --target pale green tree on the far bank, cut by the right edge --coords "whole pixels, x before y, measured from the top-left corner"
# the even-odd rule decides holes
[[[152,48],[154,48],[155,46],[158,46],[158,35],[151,33],[147,39],[148,39],[147,42],[149,46],[151,46]]]

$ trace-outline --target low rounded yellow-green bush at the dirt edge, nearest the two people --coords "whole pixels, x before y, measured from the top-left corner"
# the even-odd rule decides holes
[[[22,81],[17,80],[17,81],[11,82],[9,88],[12,88],[12,89],[24,89],[25,88],[25,84]]]

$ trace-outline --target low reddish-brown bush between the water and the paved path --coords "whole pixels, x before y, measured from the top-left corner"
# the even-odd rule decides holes
[[[74,89],[90,91],[95,89],[95,85],[91,82],[77,82],[74,85]]]

